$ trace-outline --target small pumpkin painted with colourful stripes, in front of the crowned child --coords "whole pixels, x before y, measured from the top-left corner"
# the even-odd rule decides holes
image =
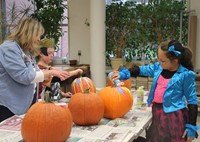
[[[71,84],[71,92],[73,94],[83,93],[87,89],[89,89],[90,92],[96,93],[96,87],[88,77],[76,78]]]

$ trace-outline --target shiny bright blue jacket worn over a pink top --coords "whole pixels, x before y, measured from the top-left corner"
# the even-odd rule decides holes
[[[148,105],[150,105],[154,98],[157,80],[163,69],[159,63],[139,66],[139,68],[140,75],[153,77],[150,94],[147,100]],[[198,104],[195,73],[180,65],[177,72],[170,79],[163,97],[163,109],[166,113],[185,108],[186,103]]]

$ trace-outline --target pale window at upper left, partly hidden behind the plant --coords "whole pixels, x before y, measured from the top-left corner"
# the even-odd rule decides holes
[[[2,1],[1,1],[2,2]],[[65,1],[67,4],[67,1]],[[5,34],[9,34],[14,29],[17,21],[23,16],[31,15],[34,12],[35,6],[30,1],[24,0],[6,0],[6,7],[4,13],[6,13],[6,30]],[[68,17],[67,9],[64,12],[64,16]],[[68,56],[68,19],[66,18],[61,24],[63,36],[58,43],[58,50],[55,52],[55,56],[66,57]]]

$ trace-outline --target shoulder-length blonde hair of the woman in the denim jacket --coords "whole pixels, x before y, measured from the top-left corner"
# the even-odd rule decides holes
[[[37,36],[42,36],[44,28],[36,19],[27,17],[20,21],[16,30],[11,33],[7,39],[15,40],[21,46],[24,52],[30,52],[32,55],[39,53],[38,44],[35,43]]]

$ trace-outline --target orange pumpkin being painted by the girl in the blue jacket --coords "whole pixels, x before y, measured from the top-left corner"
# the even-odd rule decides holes
[[[115,119],[123,117],[133,105],[133,96],[126,87],[105,87],[98,95],[104,102],[104,117]]]

